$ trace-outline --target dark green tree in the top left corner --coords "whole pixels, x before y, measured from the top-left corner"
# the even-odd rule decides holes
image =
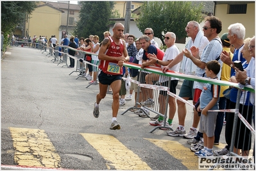
[[[8,44],[8,35],[21,25],[26,15],[37,8],[35,1],[1,1],[1,31],[4,32],[4,49]],[[12,35],[10,36],[12,37]]]

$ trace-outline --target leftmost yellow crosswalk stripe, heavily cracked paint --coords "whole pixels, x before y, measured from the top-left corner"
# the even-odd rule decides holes
[[[44,130],[9,127],[14,161],[18,165],[30,167],[59,168],[60,156]]]

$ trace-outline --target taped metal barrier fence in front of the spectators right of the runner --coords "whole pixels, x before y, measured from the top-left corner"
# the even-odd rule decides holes
[[[246,156],[249,155],[251,146],[254,147],[254,145],[255,145],[255,129],[252,127],[252,123],[255,123],[255,120],[254,120],[255,105],[245,103],[246,98],[250,99],[250,97],[255,94],[255,90],[253,89],[252,86],[247,85],[247,86],[244,86],[243,89],[241,89],[239,87],[238,83],[231,83],[231,82],[227,82],[227,81],[209,79],[206,77],[189,76],[189,75],[181,74],[179,72],[174,72],[171,70],[168,70],[166,72],[166,74],[164,74],[164,73],[162,73],[162,69],[160,69],[158,67],[146,67],[146,69],[142,70],[140,65],[134,64],[134,63],[124,63],[124,66],[141,70],[140,76],[143,72],[149,72],[149,73],[158,74],[159,76],[162,75],[162,76],[167,76],[167,77],[178,77],[181,79],[198,81],[201,83],[210,83],[212,85],[228,85],[228,86],[233,86],[233,87],[237,88],[238,89],[237,100],[235,102],[234,109],[212,110],[212,111],[225,112],[226,115],[231,120],[231,122],[230,122],[231,126],[226,126],[226,129],[229,129],[230,131],[232,131],[232,132],[230,132],[230,134],[232,134],[232,138],[231,138],[231,143],[230,143],[230,149],[228,149],[229,150],[228,155],[230,155],[230,156],[243,155],[244,159],[248,159]],[[124,79],[128,79],[128,78],[124,78]],[[138,95],[137,95],[137,100],[136,100],[136,106],[127,109],[126,111],[121,113],[121,115],[124,115],[124,113],[128,112],[132,108],[137,109],[138,108],[137,105],[141,105],[141,102],[139,101],[138,96],[141,93],[140,88],[142,88],[142,87],[152,89],[155,92],[157,92],[157,90],[165,90],[165,91],[167,91],[167,94],[170,95],[171,97],[178,99],[178,100],[184,102],[185,104],[188,104],[189,106],[192,106],[194,108],[193,104],[183,100],[181,97],[178,97],[178,95],[175,95],[175,94],[169,92],[169,88],[167,88],[167,87],[169,87],[169,85],[166,88],[163,88],[162,86],[155,86],[155,85],[144,85],[143,84],[144,77],[141,77],[141,79],[138,80],[139,82],[133,81],[132,79],[130,79],[130,81],[132,81],[133,83],[137,83],[139,85],[139,88],[137,91]],[[152,80],[152,83],[153,83],[153,80]],[[250,95],[249,95],[249,97],[246,97],[246,95],[248,95],[248,92],[250,92]],[[241,100],[241,99],[244,99],[244,100]],[[155,101],[155,102],[157,101],[157,95],[154,95],[153,101]],[[159,103],[161,103],[161,102],[159,102]],[[154,104],[154,105],[156,105],[156,104]],[[167,99],[165,101],[165,106],[168,106]],[[153,111],[154,113],[156,113],[159,116],[164,117],[164,124],[166,124],[167,108],[165,108],[164,110],[162,109],[162,111],[164,111],[164,113],[163,112],[159,113],[156,110],[157,108],[148,108],[147,106],[144,106],[144,108],[146,108],[147,110]],[[171,109],[169,108],[169,110],[171,110]],[[145,114],[147,113],[144,110],[143,110],[143,112]],[[147,117],[149,117],[149,115],[147,115]],[[255,126],[255,124],[253,124],[253,126]],[[155,129],[163,128],[163,127],[166,127],[166,126],[165,125],[157,126],[157,127],[153,128],[150,131],[150,133],[155,131]],[[240,152],[240,149],[241,149],[241,152]],[[255,154],[255,149],[253,148],[253,157],[254,157],[254,154]],[[219,163],[217,163],[216,165],[219,165]],[[216,166],[216,168],[217,168],[217,166]],[[213,168],[211,168],[211,169],[213,169]]]

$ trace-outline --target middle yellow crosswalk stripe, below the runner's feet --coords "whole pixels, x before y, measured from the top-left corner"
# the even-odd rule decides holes
[[[81,133],[81,135],[108,162],[108,168],[112,166],[116,170],[151,170],[147,163],[114,136],[87,133]]]

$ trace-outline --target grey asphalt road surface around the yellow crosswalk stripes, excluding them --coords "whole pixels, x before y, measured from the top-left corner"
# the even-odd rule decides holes
[[[75,69],[67,68],[64,63],[57,65],[53,63],[53,57],[46,56],[47,53],[38,49],[28,47],[10,47],[3,55],[1,60],[2,72],[2,108],[1,108],[1,129],[2,129],[2,163],[13,162],[13,147],[9,142],[12,138],[8,134],[9,127],[21,127],[27,129],[40,129],[47,132],[48,136],[55,143],[56,149],[61,151],[63,168],[80,167],[78,163],[65,154],[83,154],[91,155],[94,158],[90,161],[90,165],[83,161],[79,165],[80,168],[88,168],[96,170],[105,169],[105,159],[103,159],[97,151],[85,149],[88,146],[81,140],[81,133],[108,134],[118,138],[123,144],[137,148],[139,144],[142,147],[149,147],[151,143],[144,140],[173,140],[189,147],[186,139],[167,136],[165,131],[157,129],[153,133],[149,133],[152,126],[149,126],[148,118],[140,118],[132,112],[121,115],[128,107],[134,105],[134,101],[127,101],[126,106],[119,108],[117,120],[121,123],[121,130],[113,131],[109,129],[110,113],[112,105],[112,95],[106,95],[101,101],[99,118],[92,117],[92,106],[96,100],[96,94],[99,92],[98,85],[89,85],[84,77],[78,77]],[[72,74],[71,74],[72,73]],[[180,90],[182,82],[179,81],[177,86],[177,94]],[[134,97],[134,96],[133,96]],[[192,123],[192,108],[187,106],[187,117],[185,124],[187,129]],[[151,113],[151,117],[155,115]],[[107,122],[106,122],[107,121]],[[178,124],[177,113],[173,120],[174,127]],[[225,133],[223,127],[222,133]],[[225,136],[221,135],[221,142],[225,143]],[[4,136],[4,142],[3,142]],[[65,139],[68,136],[69,139]],[[138,139],[137,139],[138,138]],[[81,141],[79,141],[81,140]],[[6,142],[5,142],[6,141]],[[7,143],[8,142],[8,143]],[[83,147],[80,147],[83,145]],[[74,148],[76,147],[76,148]],[[186,148],[187,148],[186,147]],[[221,145],[219,145],[221,148]],[[185,149],[189,151],[189,149]],[[164,170],[166,168],[185,169],[190,163],[184,167],[180,161],[174,160],[176,163],[169,162],[169,154],[162,154],[162,151],[151,148],[138,148],[138,154],[150,154],[152,151],[160,156],[162,162],[151,166],[152,169]],[[159,152],[159,154],[157,154]],[[189,152],[190,153],[190,152]],[[183,156],[183,154],[179,154]],[[96,156],[96,157],[95,157]],[[141,156],[142,159],[151,163],[155,162],[154,158]],[[149,162],[149,163],[150,163]],[[162,165],[165,163],[165,165]],[[74,165],[74,166],[73,166]],[[86,165],[86,166],[84,166]],[[104,166],[104,167],[102,167]],[[51,170],[52,168],[22,168],[18,166],[1,165],[2,170]],[[56,170],[56,169],[54,169]],[[62,169],[63,170],[63,169]]]

